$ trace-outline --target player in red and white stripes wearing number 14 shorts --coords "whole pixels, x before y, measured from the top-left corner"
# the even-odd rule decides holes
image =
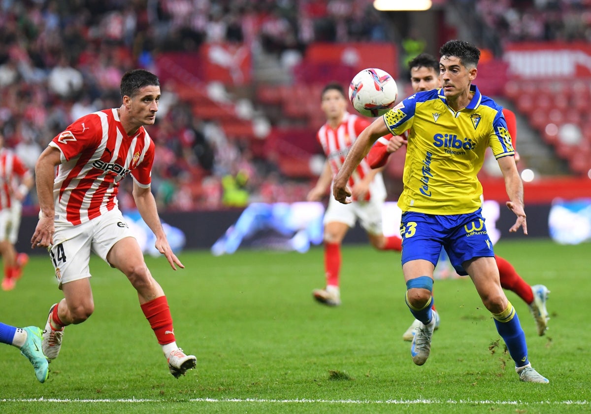
[[[196,366],[196,358],[178,348],[164,291],[150,274],[116,198],[119,182],[131,175],[134,200],[156,236],[155,247],[174,270],[184,268],[168,244],[150,191],[154,143],[144,125],[154,124],[160,82],[137,69],[125,73],[120,89],[121,107],[74,121],[53,138],[35,165],[41,212],[31,244],[48,248],[64,292],[64,299],[50,308],[43,352],[50,360],[56,358],[64,326],[84,322],[92,314],[88,265],[94,251],[121,270],[137,290],[170,373],[178,378]]]

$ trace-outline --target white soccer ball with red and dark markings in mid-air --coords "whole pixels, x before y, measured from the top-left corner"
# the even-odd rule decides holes
[[[397,98],[396,81],[382,69],[363,69],[353,77],[349,86],[353,108],[366,117],[384,115],[394,107]]]

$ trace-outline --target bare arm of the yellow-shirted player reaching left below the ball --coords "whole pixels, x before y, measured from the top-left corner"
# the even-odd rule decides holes
[[[350,199],[348,198],[351,196],[351,191],[347,187],[349,177],[353,173],[353,170],[355,170],[359,163],[361,163],[363,157],[369,153],[369,150],[371,150],[375,141],[377,141],[379,137],[383,137],[388,133],[389,131],[384,119],[380,117],[359,134],[359,137],[357,137],[355,143],[353,143],[349,150],[343,166],[340,167],[339,172],[335,176],[333,196],[338,202],[343,204],[350,203]]]

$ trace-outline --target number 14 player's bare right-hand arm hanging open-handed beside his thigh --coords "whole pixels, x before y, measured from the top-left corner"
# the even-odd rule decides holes
[[[144,219],[145,223],[156,236],[154,246],[160,251],[160,253],[164,254],[166,260],[170,263],[170,267],[174,270],[177,270],[177,266],[184,269],[184,264],[178,260],[176,254],[174,254],[173,250],[170,248],[170,244],[168,244],[168,239],[166,238],[162,223],[160,222],[160,217],[158,216],[156,200],[150,191],[150,187],[140,187],[134,182],[134,200],[142,219]]]

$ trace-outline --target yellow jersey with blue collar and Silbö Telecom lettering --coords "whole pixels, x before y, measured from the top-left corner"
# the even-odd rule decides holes
[[[388,130],[409,130],[398,199],[402,211],[426,214],[465,214],[480,208],[482,168],[486,147],[496,159],[514,156],[502,106],[480,94],[476,85],[470,104],[456,112],[443,89],[417,92],[384,114]]]

